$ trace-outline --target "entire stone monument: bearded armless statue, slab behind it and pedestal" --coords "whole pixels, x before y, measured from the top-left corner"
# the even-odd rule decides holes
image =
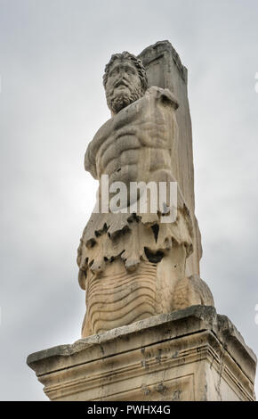
[[[85,152],[99,188],[77,252],[82,339],[27,359],[51,400],[255,400],[257,358],[200,278],[187,74],[168,41],[106,66],[111,118]]]

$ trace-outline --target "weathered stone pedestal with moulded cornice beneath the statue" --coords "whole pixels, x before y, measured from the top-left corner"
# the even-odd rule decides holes
[[[256,357],[226,316],[192,306],[28,356],[51,400],[254,400]]]

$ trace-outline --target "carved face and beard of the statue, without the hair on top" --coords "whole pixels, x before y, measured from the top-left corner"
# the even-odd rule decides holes
[[[117,113],[143,95],[141,78],[130,60],[113,62],[106,84],[106,97],[110,111]]]

